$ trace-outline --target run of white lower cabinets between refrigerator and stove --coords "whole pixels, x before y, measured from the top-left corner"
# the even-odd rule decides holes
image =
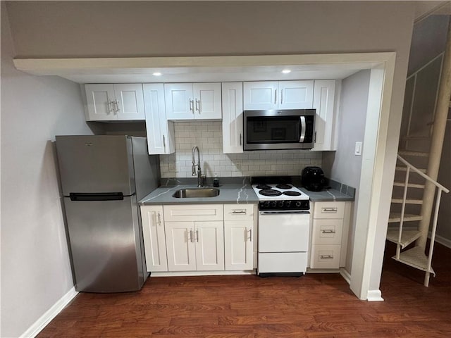
[[[255,268],[254,204],[142,206],[150,272]]]

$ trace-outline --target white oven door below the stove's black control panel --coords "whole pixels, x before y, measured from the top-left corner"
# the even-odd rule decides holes
[[[259,252],[309,250],[309,211],[259,213]]]

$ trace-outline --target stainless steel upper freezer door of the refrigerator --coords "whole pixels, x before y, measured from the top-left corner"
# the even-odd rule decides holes
[[[132,145],[123,135],[57,136],[63,195],[135,192]]]

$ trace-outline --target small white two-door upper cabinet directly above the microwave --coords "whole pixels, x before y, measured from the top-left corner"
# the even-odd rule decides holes
[[[247,111],[312,108],[313,89],[313,80],[244,82],[244,108]]]

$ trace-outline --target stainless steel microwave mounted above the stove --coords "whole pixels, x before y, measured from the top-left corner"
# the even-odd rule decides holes
[[[244,150],[311,149],[315,109],[244,111]]]

